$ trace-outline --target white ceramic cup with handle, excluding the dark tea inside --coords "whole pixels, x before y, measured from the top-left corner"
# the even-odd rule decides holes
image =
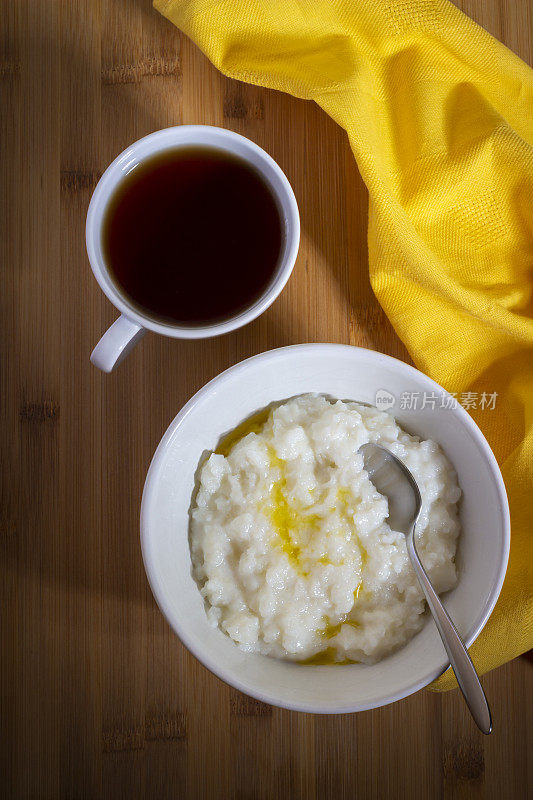
[[[191,145],[205,145],[226,150],[255,167],[276,197],[284,225],[284,244],[279,263],[261,297],[248,308],[223,322],[194,327],[158,321],[133,306],[126,294],[122,293],[120,287],[112,280],[102,246],[103,220],[107,205],[124,176],[155,153]],[[262,314],[282,291],[294,267],[299,241],[300,217],[291,185],[276,162],[254,142],[224,128],[207,125],[165,128],[139,139],[106,169],[94,190],[87,213],[86,242],[92,270],[104,294],[121,312],[121,316],[104,333],[94,348],[91,354],[92,363],[104,372],[111,372],[147,330],[176,339],[204,339],[220,336],[246,325]],[[177,241],[178,250],[179,246],[180,243]]]

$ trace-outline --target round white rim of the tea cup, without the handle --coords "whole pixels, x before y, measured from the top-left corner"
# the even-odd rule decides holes
[[[269,180],[271,191],[280,204],[280,211],[285,220],[288,235],[277,275],[273,277],[270,286],[252,305],[229,319],[193,327],[158,321],[143,314],[142,310],[129,303],[109,276],[109,270],[105,264],[100,246],[100,236],[102,220],[109,199],[120,182],[121,175],[125,172],[124,167],[131,163],[135,154],[140,149],[148,147],[147,152],[139,159],[143,160],[147,156],[152,156],[155,153],[163,152],[176,146],[204,143],[198,142],[199,137],[203,137],[206,145],[229,150],[245,161],[250,161],[246,153],[243,154],[241,150],[237,151],[232,147],[224,147],[224,143],[236,143],[258,158],[264,170],[257,163],[254,163],[254,166],[260,169],[262,175]],[[276,178],[278,186],[273,185],[269,179],[269,173],[270,176]],[[109,164],[98,181],[89,203],[85,225],[85,242],[89,263],[100,288],[108,300],[124,316],[142,328],[151,330],[154,333],[160,333],[163,336],[170,336],[176,339],[205,339],[220,336],[247,325],[266,311],[279,297],[296,263],[300,244],[300,214],[294,191],[287,176],[272,156],[251,139],[215,125],[175,125],[161,128],[147,136],[143,136],[141,139],[137,139]]]

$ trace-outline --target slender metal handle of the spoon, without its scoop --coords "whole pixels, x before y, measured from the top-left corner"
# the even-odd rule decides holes
[[[483,687],[479,682],[476,668],[472,663],[472,659],[468,655],[468,651],[457,632],[457,628],[451,621],[446,609],[441,603],[441,600],[433,588],[427,573],[422,566],[422,562],[418,557],[415,546],[415,526],[410,535],[407,537],[407,552],[413,564],[416,577],[426,595],[429,610],[433,614],[433,619],[440,633],[442,643],[448,653],[450,664],[455,672],[457,683],[461,689],[466,704],[470,709],[476,725],[485,734],[489,734],[492,730],[492,718],[490,715],[489,705]]]

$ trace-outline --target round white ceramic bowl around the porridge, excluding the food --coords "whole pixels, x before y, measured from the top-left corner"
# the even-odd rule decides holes
[[[201,389],[174,419],[154,455],[141,509],[144,564],[155,598],[182,642],[219,678],[259,700],[314,713],[376,708],[427,686],[448,666],[435,625],[373,666],[302,666],[241,652],[208,622],[191,575],[189,507],[195,472],[221,436],[268,404],[305,392],[375,403],[379,390],[396,396],[390,413],[422,438],[439,442],[452,461],[464,496],[457,563],[459,582],[446,607],[467,645],[483,629],[505,576],[509,509],[500,470],[466,411],[402,409],[404,392],[443,394],[416,369],[356,347],[308,344],[249,358]],[[383,393],[382,393],[383,396]],[[487,413],[491,413],[487,411]]]

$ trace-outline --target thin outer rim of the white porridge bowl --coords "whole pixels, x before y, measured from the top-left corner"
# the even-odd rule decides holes
[[[152,590],[154,599],[165,617],[166,621],[170,625],[171,629],[174,633],[178,636],[180,641],[185,645],[185,647],[189,650],[190,653],[210,672],[212,672],[217,678],[222,680],[224,683],[232,686],[235,689],[243,692],[244,694],[254,697],[261,702],[268,703],[269,705],[276,706],[278,708],[286,708],[291,711],[301,711],[304,713],[311,713],[311,714],[345,714],[345,713],[356,713],[358,711],[368,711],[373,708],[381,708],[383,706],[389,705],[391,703],[396,702],[397,700],[402,700],[405,697],[414,694],[415,692],[419,691],[420,689],[425,688],[434,680],[436,680],[440,675],[442,675],[450,666],[449,661],[446,657],[443,658],[442,665],[435,669],[432,673],[424,676],[421,680],[417,680],[410,684],[407,688],[403,688],[400,691],[388,695],[383,702],[376,703],[371,701],[369,703],[347,703],[345,705],[339,705],[335,708],[325,708],[321,705],[313,705],[309,703],[300,703],[300,702],[292,702],[291,700],[280,700],[274,693],[269,692],[262,692],[260,690],[256,690],[255,687],[253,689],[250,688],[249,685],[245,685],[243,682],[239,680],[239,677],[230,671],[226,671],[220,667],[218,663],[216,663],[215,659],[212,658],[208,652],[199,649],[196,645],[191,642],[186,632],[180,629],[179,624],[176,624],[172,618],[172,612],[170,611],[170,606],[166,601],[165,593],[160,590],[158,586],[157,578],[156,578],[156,568],[154,566],[154,559],[153,553],[150,546],[150,533],[149,533],[149,511],[152,504],[153,496],[155,494],[155,485],[157,482],[158,471],[161,469],[163,464],[164,455],[168,447],[170,446],[176,431],[182,425],[184,420],[191,414],[196,406],[203,400],[204,397],[209,395],[213,389],[217,386],[220,386],[221,383],[225,383],[227,381],[234,380],[239,373],[243,372],[247,369],[250,362],[259,363],[259,362],[266,362],[270,360],[275,360],[277,358],[281,358],[286,354],[288,351],[291,352],[298,352],[298,353],[309,353],[314,352],[321,355],[326,355],[328,351],[331,353],[332,351],[340,352],[340,351],[350,351],[359,354],[367,354],[372,357],[372,359],[377,362],[378,364],[381,363],[383,365],[394,365],[395,367],[400,367],[403,369],[407,374],[412,376],[416,376],[418,379],[422,377],[426,382],[428,382],[428,386],[432,386],[433,389],[437,389],[440,391],[445,391],[442,386],[440,386],[436,381],[432,378],[427,376],[425,373],[421,372],[420,370],[416,369],[416,367],[407,364],[404,361],[401,361],[398,358],[394,358],[393,356],[385,355],[384,353],[380,353],[375,350],[370,350],[369,348],[365,347],[355,347],[352,345],[347,344],[333,344],[333,343],[306,343],[306,344],[294,344],[294,345],[287,345],[285,347],[279,347],[272,350],[266,350],[262,353],[259,353],[254,356],[250,356],[249,358],[244,359],[243,361],[234,364],[231,367],[228,367],[223,372],[216,375],[212,378],[208,383],[202,386],[191,398],[188,402],[181,408],[181,410],[176,414],[170,425],[168,426],[167,430],[163,434],[155,453],[152,457],[150,462],[150,466],[148,468],[148,472],[146,475],[142,500],[141,500],[141,511],[140,511],[140,538],[141,538],[141,552],[142,558],[144,562],[144,568],[146,571],[146,576],[148,579],[148,583]],[[485,608],[484,614],[478,619],[476,627],[470,632],[470,635],[465,639],[465,644],[467,648],[471,647],[473,642],[478,638],[479,634],[485,627],[490,615],[494,610],[494,606],[500,596],[500,592],[503,586],[503,582],[505,579],[505,574],[507,571],[507,564],[509,561],[509,550],[510,550],[510,543],[511,543],[511,524],[510,524],[510,513],[509,513],[509,503],[507,498],[507,492],[505,489],[505,484],[503,481],[503,477],[499,468],[499,465],[496,461],[496,457],[492,452],[492,449],[487,442],[485,436],[483,435],[481,429],[478,427],[476,422],[472,419],[470,414],[468,414],[465,409],[458,405],[454,412],[459,414],[462,417],[463,422],[466,424],[466,427],[469,428],[470,434],[475,439],[476,443],[481,447],[484,452],[484,455],[487,459],[487,465],[490,469],[491,475],[495,481],[495,484],[498,489],[498,500],[501,507],[502,512],[502,532],[503,532],[503,542],[502,542],[502,558],[500,561],[500,567],[498,571],[497,580],[494,582],[489,597],[487,598],[487,604]],[[327,669],[328,667],[316,667],[317,669]]]

